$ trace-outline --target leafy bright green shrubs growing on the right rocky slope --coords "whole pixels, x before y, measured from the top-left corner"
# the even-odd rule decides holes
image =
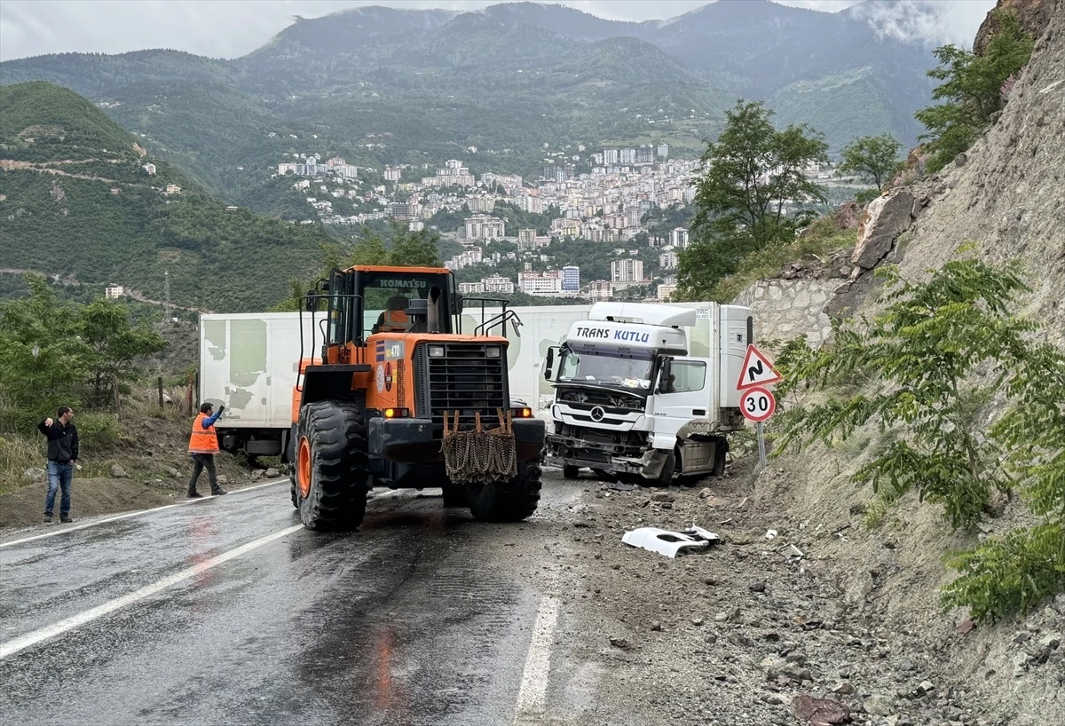
[[[784,412],[776,453],[878,426],[873,458],[853,476],[873,484],[870,526],[912,490],[940,504],[955,529],[983,517],[993,488],[1019,491],[1038,524],[953,552],[958,577],[941,601],[976,621],[1023,612],[1065,591],[1065,354],[1032,343],[1035,326],[1010,313],[1027,290],[1015,266],[957,260],[921,284],[884,274],[898,290],[883,313],[838,327],[831,347],[785,346],[780,389],[829,399]],[[861,376],[865,391],[833,396]],[[987,426],[996,397],[1005,413]]]

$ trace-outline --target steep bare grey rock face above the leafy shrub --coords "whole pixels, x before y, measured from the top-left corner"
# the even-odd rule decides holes
[[[987,261],[1020,261],[1033,294],[1026,312],[1065,344],[1065,2],[1036,5],[1047,26],[1010,93],[999,121],[939,175],[917,183],[927,195],[901,251],[904,275],[919,275],[976,243]]]

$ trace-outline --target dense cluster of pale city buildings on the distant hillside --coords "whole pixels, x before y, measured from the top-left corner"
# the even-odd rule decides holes
[[[433,225],[442,237],[463,248],[447,260],[448,268],[486,270],[479,280],[468,279],[469,270],[463,273],[460,292],[520,291],[539,297],[590,300],[609,299],[634,286],[644,295],[661,298],[666,291],[668,296],[670,281],[675,283],[679,253],[689,244],[688,230],[676,228],[635,246],[634,240],[648,233],[649,225],[643,221],[648,213],[691,203],[700,167],[695,160],[670,159],[669,146],[659,144],[590,154],[556,152],[545,160],[536,180],[491,171],[476,177],[456,159],[439,168],[424,164],[363,169],[367,179],[383,178],[386,183],[380,184],[364,181],[357,167],[339,156],[323,161],[320,153],[306,153],[291,159],[278,164],[277,176],[293,177],[293,187],[327,225],[362,226],[392,219],[421,231],[433,225],[430,220],[438,214],[461,215],[457,227],[455,222],[440,229]],[[548,214],[550,221],[541,229],[508,228],[504,213],[513,209]],[[552,266],[553,258],[545,248],[554,240],[566,238],[602,244],[604,254],[615,258],[609,279],[584,279],[579,264]],[[499,242],[510,243],[513,251],[487,252],[492,243]],[[644,261],[638,259],[640,247],[657,248],[655,254],[644,258],[655,275],[645,275]],[[491,271],[501,264],[521,271],[515,277]]]

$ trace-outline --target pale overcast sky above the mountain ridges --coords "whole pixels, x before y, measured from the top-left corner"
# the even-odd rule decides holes
[[[213,57],[255,50],[292,22],[348,7],[476,10],[499,0],[2,0],[0,60],[71,51],[121,53],[174,48]],[[543,0],[616,20],[666,19],[707,0]],[[858,0],[775,0],[835,12]],[[884,32],[920,36],[935,45],[972,44],[995,0],[896,0],[873,22]],[[915,12],[919,9],[919,12]]]

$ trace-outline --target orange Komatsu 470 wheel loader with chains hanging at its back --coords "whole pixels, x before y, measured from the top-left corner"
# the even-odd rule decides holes
[[[480,324],[463,333],[462,310],[478,301]],[[289,438],[292,504],[305,526],[358,527],[374,486],[440,486],[445,506],[480,521],[536,511],[545,429],[511,400],[507,339],[489,334],[521,325],[505,300],[460,298],[444,268],[356,266],[321,280],[300,310],[317,315]],[[447,435],[461,436],[449,446],[445,417]]]

